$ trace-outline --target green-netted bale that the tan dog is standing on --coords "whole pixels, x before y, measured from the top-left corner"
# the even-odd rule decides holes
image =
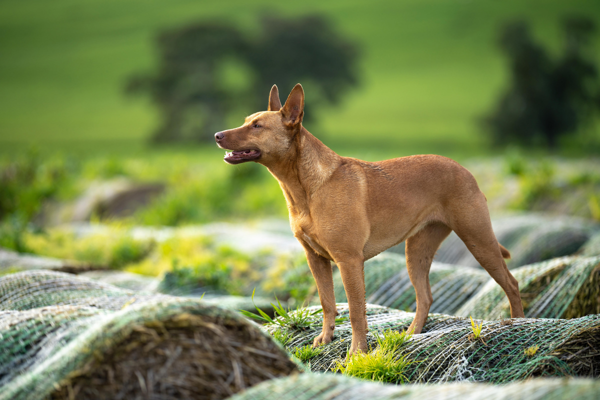
[[[340,305],[338,312],[348,315],[347,306]],[[367,306],[367,315],[370,348],[376,347],[374,333],[407,329],[415,316],[374,305]],[[310,345],[320,332],[321,321],[316,318],[310,329],[288,328],[286,347],[290,352]],[[273,334],[284,329],[267,328]],[[414,362],[405,374],[409,382],[507,383],[538,376],[600,376],[600,315],[571,320],[514,318],[482,322],[481,336],[475,338],[467,318],[434,314],[427,318],[423,331],[398,350]],[[305,360],[308,368],[335,370],[337,363],[345,359],[351,341],[352,329],[346,321],[336,327],[334,341]]]

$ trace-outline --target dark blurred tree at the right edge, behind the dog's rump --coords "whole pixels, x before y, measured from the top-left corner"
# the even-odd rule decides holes
[[[484,122],[496,143],[545,145],[600,112],[600,80],[589,53],[594,23],[571,17],[563,24],[563,55],[553,60],[536,44],[525,22],[506,25],[500,48],[509,59],[511,86]]]

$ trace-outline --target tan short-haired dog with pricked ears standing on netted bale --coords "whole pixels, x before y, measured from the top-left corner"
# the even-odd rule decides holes
[[[511,317],[524,317],[517,280],[491,228],[487,201],[473,175],[439,155],[368,163],[340,157],[302,127],[304,91],[296,85],[281,107],[277,86],[269,108],[239,128],[215,134],[229,164],[256,161],[281,186],[294,236],[304,247],[323,306],[323,330],[313,345],[334,337],[331,261],[340,269],[352,324],[350,353],[367,349],[365,260],[406,240],[416,291],[409,330],[421,333],[431,306],[429,269],[442,240],[454,230],[508,296]]]

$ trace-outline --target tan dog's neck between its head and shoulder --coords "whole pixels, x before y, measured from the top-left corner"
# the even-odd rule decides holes
[[[311,196],[341,164],[341,157],[300,126],[290,145],[289,158],[277,166],[268,166],[277,178],[292,212],[308,211]]]

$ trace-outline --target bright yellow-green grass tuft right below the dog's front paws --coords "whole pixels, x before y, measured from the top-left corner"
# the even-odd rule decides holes
[[[344,375],[389,383],[406,383],[407,366],[414,361],[406,359],[404,354],[398,354],[403,344],[412,335],[393,330],[386,330],[383,336],[376,335],[378,347],[369,353],[354,353],[345,362],[338,362],[336,370]]]

